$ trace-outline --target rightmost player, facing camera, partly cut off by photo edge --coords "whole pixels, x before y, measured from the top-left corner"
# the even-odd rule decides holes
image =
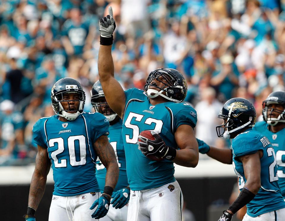
[[[253,129],[272,143],[278,165],[278,183],[285,198],[285,91],[272,92],[262,105],[264,121],[257,122]]]

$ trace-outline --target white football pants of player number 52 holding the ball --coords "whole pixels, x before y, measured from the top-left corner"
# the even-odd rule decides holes
[[[181,221],[183,195],[177,181],[161,187],[133,191],[128,208],[128,221]]]

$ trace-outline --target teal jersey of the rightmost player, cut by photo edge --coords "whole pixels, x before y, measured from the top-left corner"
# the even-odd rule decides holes
[[[273,133],[268,130],[268,124],[265,121],[257,122],[253,128],[264,134],[268,140],[271,142],[277,161],[277,174],[278,174],[278,184],[280,186],[283,198],[285,198],[285,128]]]

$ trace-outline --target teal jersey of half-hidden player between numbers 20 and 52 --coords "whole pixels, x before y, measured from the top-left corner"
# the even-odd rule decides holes
[[[126,157],[125,157],[125,149],[124,149],[124,143],[123,143],[123,138],[122,138],[122,120],[121,119],[117,123],[110,125],[108,140],[114,148],[115,155],[117,157],[117,161],[119,165],[119,179],[114,189],[114,191],[117,191],[129,185],[128,178],[127,178],[127,171],[126,171]],[[107,173],[107,170],[98,157],[96,161],[96,178],[97,178],[99,187],[101,189],[101,192],[104,191],[106,173]]]

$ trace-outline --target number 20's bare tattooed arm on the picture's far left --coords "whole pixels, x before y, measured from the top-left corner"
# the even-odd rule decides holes
[[[45,148],[38,145],[38,153],[36,157],[36,166],[31,180],[30,192],[29,192],[29,202],[28,202],[28,212],[34,209],[33,213],[37,210],[39,202],[45,192],[45,184],[47,182],[47,174],[50,171],[51,162],[48,158],[48,153]]]

